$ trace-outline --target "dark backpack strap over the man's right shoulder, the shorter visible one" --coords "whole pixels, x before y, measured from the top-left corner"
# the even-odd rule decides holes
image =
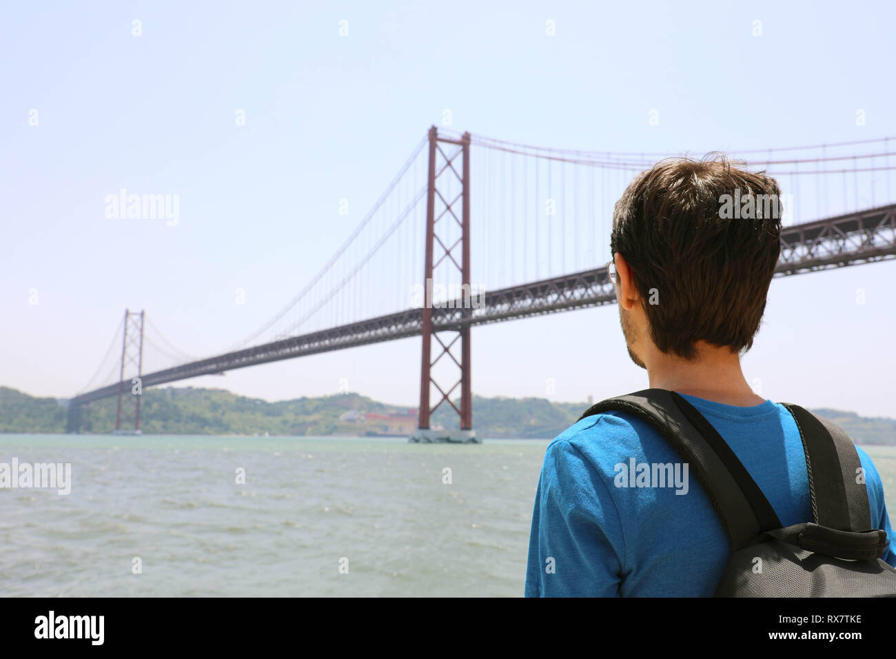
[[[874,528],[865,479],[859,478],[862,463],[852,439],[839,426],[799,405],[781,404],[797,421],[803,439],[815,523],[856,533]]]

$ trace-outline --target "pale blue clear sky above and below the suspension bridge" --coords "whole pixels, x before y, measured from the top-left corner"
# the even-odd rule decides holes
[[[0,386],[73,395],[125,308],[191,354],[226,350],[314,276],[446,109],[457,130],[596,151],[896,135],[894,19],[883,2],[5,3]],[[177,194],[177,226],[110,220],[123,187]],[[893,282],[896,261],[776,279],[747,380],[896,417]],[[414,405],[419,344],[179,386],[280,400],[347,383]],[[472,355],[477,395],[647,386],[615,306],[476,327]]]

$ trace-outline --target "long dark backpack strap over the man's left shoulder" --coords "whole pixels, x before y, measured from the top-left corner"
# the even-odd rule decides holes
[[[646,422],[685,459],[719,516],[732,551],[747,546],[763,531],[780,528],[778,516],[737,455],[680,395],[644,389],[608,398],[592,405],[579,421],[610,411],[628,412]]]

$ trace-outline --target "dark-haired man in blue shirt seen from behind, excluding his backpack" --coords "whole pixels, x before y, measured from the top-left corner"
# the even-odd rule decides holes
[[[799,431],[783,405],[754,394],[740,367],[778,262],[779,199],[774,179],[724,156],[663,160],[616,203],[609,270],[629,355],[650,388],[694,405],[788,526],[813,519]],[[857,452],[872,524],[888,536],[883,560],[896,566],[881,478]],[[626,412],[566,429],[547,447],[538,482],[525,594],[711,596],[730,544],[682,463]],[[675,464],[675,478],[633,487],[636,464]]]

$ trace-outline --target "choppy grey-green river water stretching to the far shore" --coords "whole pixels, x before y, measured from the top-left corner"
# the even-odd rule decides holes
[[[545,447],[0,435],[73,473],[0,489],[0,596],[520,596]],[[896,510],[896,447],[866,451]]]

